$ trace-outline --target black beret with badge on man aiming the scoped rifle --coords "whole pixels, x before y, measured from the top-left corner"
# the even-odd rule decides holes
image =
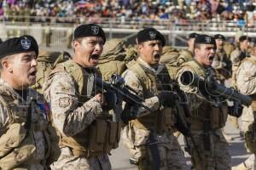
[[[79,37],[102,37],[104,43],[106,42],[105,33],[102,30],[102,27],[95,24],[78,26],[73,33],[73,38],[77,39]]]

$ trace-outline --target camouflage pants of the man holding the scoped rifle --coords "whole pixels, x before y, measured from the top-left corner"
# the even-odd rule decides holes
[[[61,148],[61,156],[50,167],[52,170],[111,170],[107,155],[86,159],[82,156],[73,156],[67,147]]]

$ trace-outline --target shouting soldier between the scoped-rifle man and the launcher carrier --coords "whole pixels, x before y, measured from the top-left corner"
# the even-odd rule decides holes
[[[131,152],[131,163],[140,170],[186,169],[183,151],[172,134],[174,95],[164,90],[169,84],[168,73],[159,64],[166,40],[154,28],[137,33],[139,57],[127,65],[123,73],[125,83],[145,99],[151,114],[128,122],[123,140]],[[162,81],[162,82],[161,82]],[[125,105],[124,112],[147,113],[143,108]]]

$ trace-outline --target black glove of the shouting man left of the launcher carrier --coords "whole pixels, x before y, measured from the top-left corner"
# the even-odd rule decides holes
[[[170,91],[160,91],[157,95],[160,99],[160,104],[166,107],[172,107],[175,105],[176,94]]]

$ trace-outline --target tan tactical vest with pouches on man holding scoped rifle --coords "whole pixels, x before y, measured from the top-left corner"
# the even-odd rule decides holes
[[[93,68],[92,72],[85,71],[80,65],[67,60],[56,66],[49,77],[56,72],[66,71],[72,78],[76,88],[76,95],[79,98],[79,105],[84,105],[91,97],[96,94],[95,78],[100,74]],[[60,133],[60,145],[68,146],[72,149],[74,156],[102,156],[108,154],[110,150],[117,148],[119,143],[119,133],[121,130],[120,122],[111,122],[106,118],[96,118],[84,131],[77,133],[73,137],[67,137]]]

